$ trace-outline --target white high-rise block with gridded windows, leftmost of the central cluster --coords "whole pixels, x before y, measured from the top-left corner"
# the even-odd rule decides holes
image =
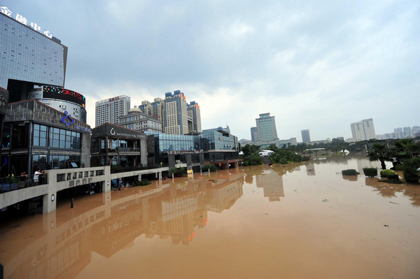
[[[95,103],[96,115],[95,126],[106,122],[118,124],[118,117],[127,115],[130,110],[130,97],[126,95],[116,96]]]

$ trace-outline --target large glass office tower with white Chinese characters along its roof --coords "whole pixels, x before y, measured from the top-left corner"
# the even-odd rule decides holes
[[[0,87],[9,102],[28,99],[35,85],[64,87],[67,47],[50,31],[0,7]]]

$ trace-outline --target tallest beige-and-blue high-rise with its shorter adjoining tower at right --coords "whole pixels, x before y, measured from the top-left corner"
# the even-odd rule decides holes
[[[165,93],[163,127],[165,134],[183,135],[200,133],[200,106],[195,101],[187,104],[186,95],[180,90]]]

